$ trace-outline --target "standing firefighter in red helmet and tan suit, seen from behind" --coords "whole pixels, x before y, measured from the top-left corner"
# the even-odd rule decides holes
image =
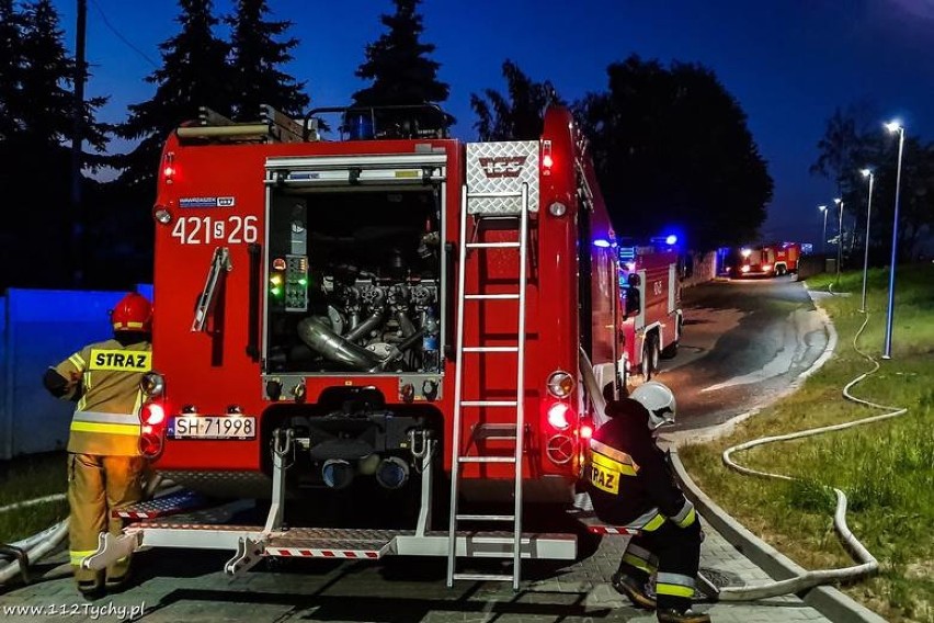
[[[76,352],[43,378],[48,392],[76,400],[68,439],[68,505],[71,568],[78,590],[95,593],[121,587],[129,557],[105,574],[82,569],[105,530],[119,534],[111,511],[143,498],[145,461],[139,454],[139,381],[151,366],[152,307],[139,294],[124,296],[111,312],[114,337]]]

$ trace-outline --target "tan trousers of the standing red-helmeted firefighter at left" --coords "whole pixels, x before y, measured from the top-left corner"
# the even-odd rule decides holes
[[[99,586],[99,571],[82,569],[81,560],[98,550],[98,535],[110,531],[119,534],[123,520],[111,511],[138,502],[143,498],[141,456],[68,455],[68,536],[71,569],[80,586]],[[107,582],[118,582],[129,570],[129,557],[121,558],[106,569]]]

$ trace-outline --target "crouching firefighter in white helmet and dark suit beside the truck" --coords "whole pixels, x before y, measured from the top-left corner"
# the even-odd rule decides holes
[[[608,403],[611,419],[590,442],[586,486],[601,521],[640,530],[613,575],[613,588],[638,608],[657,609],[662,623],[704,623],[709,615],[691,610],[700,521],[656,444],[658,430],[674,423],[676,409],[674,394],[657,381]],[[652,576],[654,596],[647,588]]]

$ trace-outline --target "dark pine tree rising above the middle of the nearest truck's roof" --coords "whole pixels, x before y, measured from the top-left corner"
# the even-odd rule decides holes
[[[425,57],[434,52],[433,44],[421,43],[424,30],[422,16],[415,11],[421,0],[394,0],[396,13],[381,15],[380,21],[389,32],[366,46],[366,60],[356,76],[373,83],[353,94],[356,106],[440,104],[451,91],[437,79],[441,65]],[[437,125],[434,118],[421,117],[423,123]],[[378,121],[378,117],[377,117]],[[454,118],[444,115],[444,127]]]

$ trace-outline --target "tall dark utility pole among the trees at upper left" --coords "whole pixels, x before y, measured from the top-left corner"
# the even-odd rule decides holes
[[[71,270],[72,285],[84,281],[84,203],[81,200],[81,143],[84,133],[84,39],[88,22],[88,0],[78,0],[78,24],[75,30],[75,109],[71,135]]]

